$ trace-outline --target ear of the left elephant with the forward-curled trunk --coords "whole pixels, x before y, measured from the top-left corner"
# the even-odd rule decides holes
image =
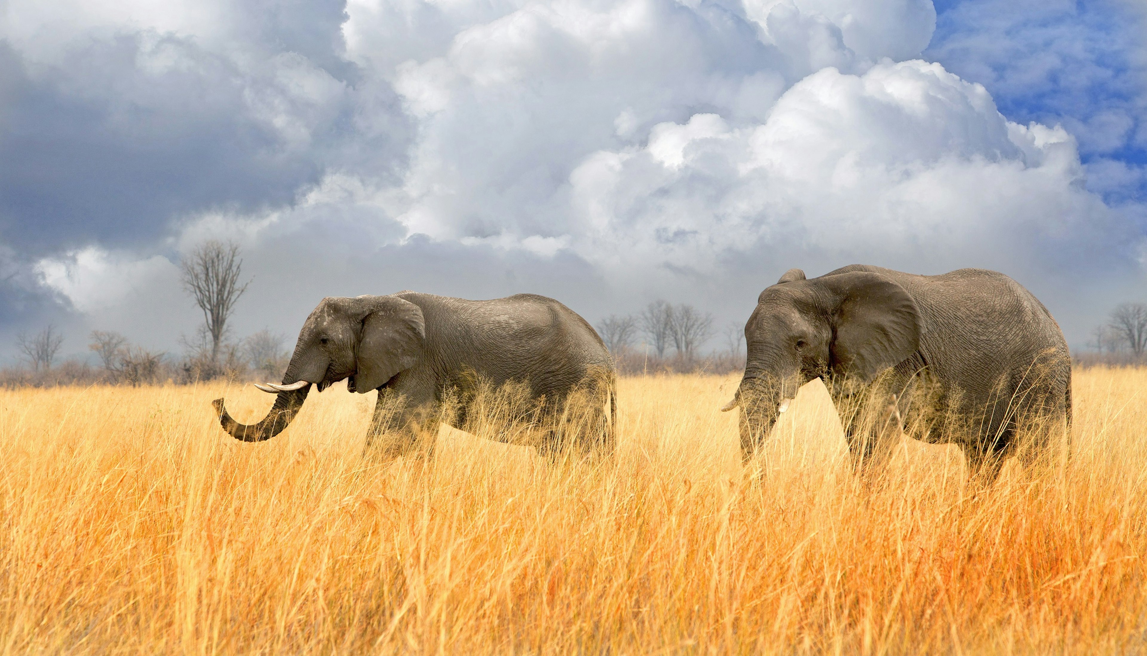
[[[362,318],[362,338],[358,344],[354,388],[366,393],[419,361],[426,323],[422,309],[409,300],[396,296],[362,299],[367,313]]]

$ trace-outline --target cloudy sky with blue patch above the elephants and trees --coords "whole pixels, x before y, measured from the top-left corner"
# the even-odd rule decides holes
[[[1147,300],[1138,0],[7,0],[0,362],[52,323],[179,352],[325,296],[664,298],[790,267],[1001,271],[1075,349]]]

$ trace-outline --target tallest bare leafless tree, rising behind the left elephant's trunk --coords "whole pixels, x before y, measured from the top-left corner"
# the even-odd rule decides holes
[[[239,245],[209,240],[184,258],[184,288],[203,311],[203,323],[211,339],[211,362],[218,364],[219,347],[227,334],[227,320],[250,281],[240,284],[243,260]]]

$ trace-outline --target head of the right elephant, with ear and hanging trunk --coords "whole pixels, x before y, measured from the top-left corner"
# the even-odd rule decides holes
[[[744,377],[721,409],[741,406],[748,456],[804,383],[829,375],[869,382],[912,356],[920,311],[903,287],[879,273],[807,280],[793,268],[760,292],[744,338]]]

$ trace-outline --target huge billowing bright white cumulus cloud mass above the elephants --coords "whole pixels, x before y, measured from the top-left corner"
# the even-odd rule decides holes
[[[49,56],[57,46],[37,49],[55,23],[25,7],[8,29],[34,75],[63,67],[69,93],[104,94],[127,118],[178,118],[188,102],[148,80],[203,84],[200,107],[242,119],[213,128],[240,145],[235,171],[267,165],[236,188],[274,190],[236,203],[190,185],[196,203],[157,211],[153,252],[96,243],[38,260],[101,320],[131,312],[133,280],[177,298],[174,265],[154,252],[211,236],[247,253],[252,315],[237,326],[251,330],[325,295],[401,288],[537,291],[591,320],[665,296],[743,320],[791,266],[865,261],[1005,271],[1075,312],[1066,326],[1082,335],[1107,302],[1089,280],[1140,275],[1141,204],[1109,205],[1089,178],[1125,186],[1142,171],[1089,169],[1077,139],[1110,149],[1136,125],[1009,120],[984,86],[920,58],[929,0],[350,0],[345,15],[264,22],[228,2],[93,7],[58,49],[135,30],[134,72],[85,77]],[[193,139],[198,123],[177,118],[145,127]]]

